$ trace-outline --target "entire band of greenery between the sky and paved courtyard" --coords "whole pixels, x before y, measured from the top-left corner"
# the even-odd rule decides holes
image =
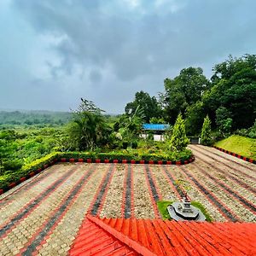
[[[119,116],[105,115],[81,98],[73,113],[0,112],[0,172],[8,176],[52,152],[128,152],[189,157],[187,135],[214,140],[236,133],[256,138],[256,55],[230,56],[207,79],[201,67],[183,68],[164,80],[159,96],[138,91]],[[152,133],[140,137],[143,123],[166,123],[164,143]],[[203,128],[203,129],[202,129]],[[0,177],[1,178],[1,177]]]

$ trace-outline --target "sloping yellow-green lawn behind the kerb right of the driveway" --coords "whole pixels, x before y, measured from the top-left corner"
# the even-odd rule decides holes
[[[215,146],[256,160],[256,139],[232,135],[215,143]]]

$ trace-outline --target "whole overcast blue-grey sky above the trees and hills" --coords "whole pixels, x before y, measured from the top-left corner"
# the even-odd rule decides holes
[[[255,0],[0,0],[0,108],[123,113],[184,67],[256,53]]]

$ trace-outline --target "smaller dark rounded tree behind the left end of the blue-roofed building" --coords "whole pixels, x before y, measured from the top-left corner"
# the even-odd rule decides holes
[[[149,94],[143,90],[136,93],[135,100],[133,102],[126,104],[125,113],[131,116],[136,113],[137,108],[141,110],[141,118],[144,122],[149,123],[151,118],[160,118],[161,116],[160,105],[156,98],[154,96],[149,96]]]

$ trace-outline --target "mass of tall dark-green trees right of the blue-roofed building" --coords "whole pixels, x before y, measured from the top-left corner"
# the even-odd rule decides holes
[[[176,78],[165,79],[165,92],[160,94],[164,119],[173,124],[183,113],[189,135],[199,134],[207,114],[222,136],[251,127],[256,118],[256,55],[230,56],[213,72],[211,81],[200,67],[184,68]],[[230,116],[224,118],[218,108],[225,108]]]

